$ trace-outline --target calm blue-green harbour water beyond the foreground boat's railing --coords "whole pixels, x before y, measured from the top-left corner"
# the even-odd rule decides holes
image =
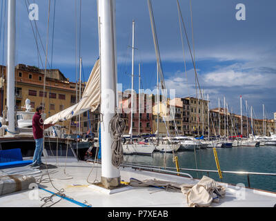
[[[209,169],[217,170],[213,148],[196,151],[177,152],[179,167],[184,169]],[[276,146],[249,147],[239,146],[234,148],[217,148],[219,166],[221,171],[248,171],[258,173],[276,173]],[[152,156],[124,155],[126,162],[164,166],[165,153],[155,152]],[[197,167],[195,163],[197,159]],[[166,153],[166,166],[175,167],[172,162],[172,153]],[[206,172],[181,171],[190,173],[195,178],[207,175]],[[247,175],[222,174],[222,182],[230,184],[243,183],[248,186]],[[209,177],[219,180],[217,173],[209,173]],[[250,187],[276,192],[276,175],[250,175]]]

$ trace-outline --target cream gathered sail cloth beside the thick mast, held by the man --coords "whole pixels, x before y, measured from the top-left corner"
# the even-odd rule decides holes
[[[90,73],[86,88],[83,91],[83,95],[79,103],[56,113],[55,115],[52,115],[51,117],[48,117],[44,121],[44,124],[55,124],[59,121],[65,121],[89,110],[95,111],[99,106],[100,98],[100,67],[98,59]]]

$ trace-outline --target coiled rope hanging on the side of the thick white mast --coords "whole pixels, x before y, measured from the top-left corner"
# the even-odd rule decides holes
[[[110,135],[113,140],[111,145],[112,165],[119,169],[121,162],[124,160],[123,146],[121,138],[126,131],[126,124],[119,113],[115,113],[109,123]]]

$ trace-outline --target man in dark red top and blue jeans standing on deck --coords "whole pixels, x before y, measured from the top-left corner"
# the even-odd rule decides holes
[[[43,106],[39,106],[36,109],[36,113],[32,117],[32,133],[34,135],[35,141],[35,151],[34,157],[32,159],[32,166],[40,166],[42,165],[41,162],[41,155],[43,151],[43,129],[47,129],[50,126],[54,126],[55,124],[46,124],[43,126],[43,119],[41,115],[43,114]]]

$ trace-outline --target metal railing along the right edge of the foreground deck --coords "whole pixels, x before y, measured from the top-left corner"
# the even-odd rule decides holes
[[[167,167],[166,169],[163,166],[150,166],[150,165],[144,165],[144,164],[129,164],[127,162],[124,162],[124,164],[121,164],[121,166],[129,166],[135,169],[146,169],[151,171],[160,171],[160,172],[166,172],[166,173],[173,173],[177,174],[177,171],[169,171],[166,169],[173,169],[176,170],[175,167]],[[206,172],[209,176],[209,173],[218,173],[218,171],[213,170],[202,170],[202,169],[184,169],[179,168],[180,171],[196,171],[196,172]],[[246,172],[246,171],[221,171],[221,173],[229,173],[229,174],[239,174],[239,175],[247,175],[247,181],[248,181],[248,187],[250,187],[250,177],[249,175],[276,175],[276,173],[257,173],[257,172]],[[188,173],[179,173],[179,175],[188,176],[193,179],[193,176]]]

